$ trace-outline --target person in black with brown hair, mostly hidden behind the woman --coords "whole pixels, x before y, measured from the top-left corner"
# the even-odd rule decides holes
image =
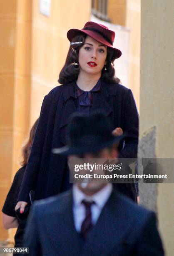
[[[4,206],[2,208],[2,223],[4,228],[17,228],[15,234],[15,247],[22,246],[24,228],[26,225],[27,215],[29,213],[29,205],[25,208],[25,212],[23,212],[22,215],[20,214],[20,209],[18,209],[17,212],[15,211],[15,205],[17,203],[17,197],[20,192],[20,187],[25,173],[27,161],[30,155],[30,150],[32,142],[34,140],[38,120],[39,119],[37,119],[34,125],[32,126],[29,138],[22,147],[22,161],[20,163],[22,167],[15,174],[12,185],[5,200]]]

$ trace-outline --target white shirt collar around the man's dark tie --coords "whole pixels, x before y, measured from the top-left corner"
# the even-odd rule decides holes
[[[99,192],[95,193],[91,197],[85,195],[78,187],[77,184],[73,186],[72,194],[75,206],[80,206],[82,200],[94,201],[98,207],[101,209],[104,207],[107,202],[109,196],[112,192],[112,184],[108,183],[104,188],[99,190]]]

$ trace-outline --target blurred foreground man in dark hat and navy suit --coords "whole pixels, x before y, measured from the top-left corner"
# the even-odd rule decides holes
[[[81,164],[96,156],[117,162],[121,139],[112,135],[104,114],[79,113],[70,122],[67,145],[53,152],[75,165],[79,157]],[[103,174],[100,168],[81,168],[78,175],[89,173]],[[154,212],[121,195],[108,179],[76,182],[69,191],[34,203],[24,238],[31,256],[164,256]]]

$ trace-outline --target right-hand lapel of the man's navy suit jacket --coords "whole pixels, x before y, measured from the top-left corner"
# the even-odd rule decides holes
[[[132,223],[126,222],[127,212],[119,204],[117,192],[112,192],[94,228],[89,232],[83,255],[109,255],[113,248],[126,244]],[[97,239],[96,239],[97,238]]]

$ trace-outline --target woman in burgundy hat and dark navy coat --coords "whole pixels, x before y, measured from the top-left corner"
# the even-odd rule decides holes
[[[58,79],[62,85],[51,90],[42,103],[15,209],[20,207],[23,212],[32,189],[35,200],[39,200],[71,187],[67,159],[52,154],[52,149],[66,144],[67,124],[75,111],[85,115],[96,110],[104,113],[115,134],[127,134],[120,143],[119,157],[137,157],[138,113],[131,90],[115,77],[114,60],[122,53],[113,47],[114,36],[114,31],[91,21],[82,29],[67,32],[70,49]],[[120,184],[119,190],[133,200],[136,197],[131,185]]]

